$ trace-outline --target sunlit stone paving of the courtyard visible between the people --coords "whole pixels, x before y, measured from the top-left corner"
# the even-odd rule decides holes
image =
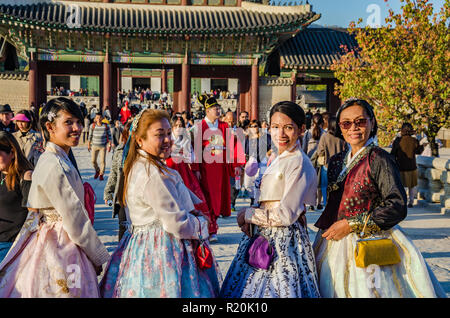
[[[105,178],[105,181],[93,179],[94,169],[87,147],[74,148],[74,154],[84,181],[91,183],[97,194],[94,228],[108,251],[112,253],[117,246],[118,221],[112,218],[111,208],[104,204],[103,189],[107,179]],[[112,153],[109,153],[106,161],[106,177],[109,175],[111,158]],[[237,202],[237,209],[248,205],[249,201],[240,199]],[[400,226],[422,252],[447,296],[450,297],[450,216],[442,215],[439,212],[440,207],[436,204],[428,205],[424,202],[418,202],[416,207],[409,209],[407,218],[400,223]],[[311,242],[314,241],[317,232],[313,224],[319,218],[320,213],[321,211],[307,213]],[[222,276],[225,277],[243,234],[236,224],[236,212],[232,213],[230,217],[220,218],[218,224],[219,241],[212,244],[212,248]]]

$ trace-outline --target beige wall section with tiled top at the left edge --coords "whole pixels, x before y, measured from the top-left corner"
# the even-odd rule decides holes
[[[0,73],[0,104],[9,104],[14,112],[29,109],[28,72]]]

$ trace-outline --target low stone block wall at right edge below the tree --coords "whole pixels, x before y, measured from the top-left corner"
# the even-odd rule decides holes
[[[450,214],[450,160],[417,156],[417,166],[420,198],[441,203],[441,213]]]

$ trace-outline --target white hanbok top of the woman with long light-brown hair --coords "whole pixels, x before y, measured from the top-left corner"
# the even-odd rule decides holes
[[[198,239],[201,221],[190,211],[202,201],[184,184],[180,174],[168,167],[160,173],[149,163],[147,153],[131,168],[126,193],[127,218],[133,226],[160,221],[163,229],[179,239]],[[202,233],[204,234],[204,233]]]

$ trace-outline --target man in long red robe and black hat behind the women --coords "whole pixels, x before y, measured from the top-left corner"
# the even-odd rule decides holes
[[[214,97],[199,97],[206,117],[194,125],[195,162],[192,168],[200,180],[210,209],[210,241],[217,241],[217,218],[231,215],[230,177],[240,175],[245,164],[243,147],[219,120],[220,105]],[[200,135],[201,133],[201,135]]]

